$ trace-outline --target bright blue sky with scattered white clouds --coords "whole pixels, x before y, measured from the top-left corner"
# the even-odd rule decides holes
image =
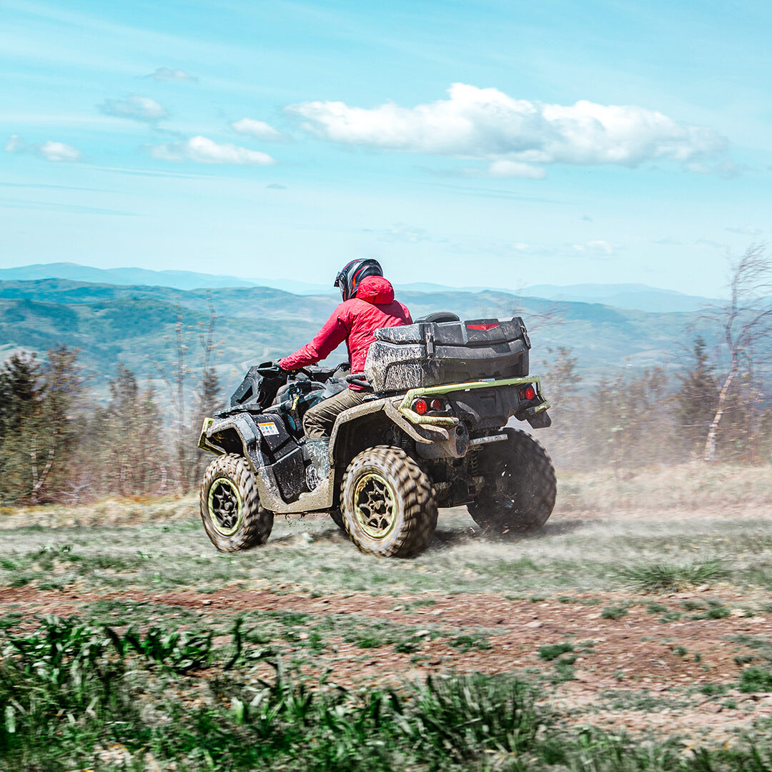
[[[0,13],[2,267],[715,295],[772,230],[768,2]]]

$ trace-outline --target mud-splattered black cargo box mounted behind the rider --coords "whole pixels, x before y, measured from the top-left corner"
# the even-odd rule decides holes
[[[375,331],[364,373],[377,392],[520,378],[530,340],[523,320],[417,322]]]

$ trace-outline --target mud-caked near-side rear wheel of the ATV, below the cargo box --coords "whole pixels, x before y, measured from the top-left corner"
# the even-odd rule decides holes
[[[348,465],[340,491],[343,524],[362,552],[409,557],[437,527],[432,482],[404,450],[378,445]]]

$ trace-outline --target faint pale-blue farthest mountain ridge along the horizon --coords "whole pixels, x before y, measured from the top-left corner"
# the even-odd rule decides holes
[[[172,289],[262,286],[281,289],[283,292],[295,295],[337,296],[337,290],[333,288],[331,281],[329,285],[322,285],[295,279],[243,279],[237,276],[217,276],[192,271],[153,271],[144,268],[103,269],[80,266],[74,262],[50,262],[0,269],[0,280],[36,279],[69,279],[75,282],[119,286],[161,286]],[[397,289],[402,292],[419,293],[508,293],[547,300],[566,300],[572,303],[602,303],[616,308],[653,312],[696,311],[710,302],[708,298],[685,295],[672,289],[658,289],[645,284],[574,284],[571,286],[540,284],[515,289],[505,286],[452,287],[432,283],[408,283],[398,284]]]

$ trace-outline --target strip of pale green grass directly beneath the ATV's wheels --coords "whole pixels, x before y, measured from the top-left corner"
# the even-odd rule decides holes
[[[190,503],[178,506],[184,509]],[[486,592],[536,603],[560,598],[586,605],[598,603],[598,598],[587,598],[598,591],[631,585],[644,591],[677,589],[722,577],[772,589],[767,521],[699,522],[696,539],[694,523],[687,520],[658,524],[652,530],[650,523],[639,519],[567,520],[561,526],[556,516],[543,532],[507,541],[470,535],[469,515],[450,510],[442,512],[429,550],[401,561],[360,554],[330,520],[276,520],[264,547],[239,554],[218,554],[193,516],[131,528],[94,525],[41,532],[28,527],[5,530],[0,584],[21,576],[16,581],[48,583],[47,587],[65,591],[75,585],[87,591],[194,588],[216,595],[220,587],[245,582],[274,591],[285,586],[286,591],[316,597],[347,591],[396,598],[424,595],[389,601],[387,608],[402,605],[408,613],[431,613],[438,594]],[[749,550],[754,555],[751,564],[743,557]],[[719,552],[726,562],[712,559]],[[632,569],[620,573],[620,554],[631,556]],[[708,557],[700,557],[703,554]],[[733,571],[727,574],[730,566]]]

